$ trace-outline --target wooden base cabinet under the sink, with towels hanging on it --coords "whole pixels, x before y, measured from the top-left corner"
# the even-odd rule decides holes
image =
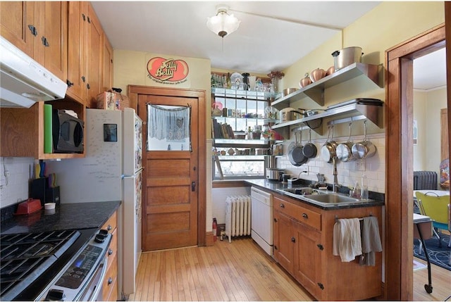
[[[359,265],[359,258],[342,263],[333,256],[336,218],[374,215],[381,225],[381,207],[323,210],[288,196],[273,196],[273,255],[318,300],[363,300],[381,296],[382,255],[375,266]],[[355,287],[358,284],[358,289]]]

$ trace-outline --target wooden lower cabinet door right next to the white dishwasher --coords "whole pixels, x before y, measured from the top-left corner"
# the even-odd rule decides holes
[[[274,213],[273,244],[274,258],[290,274],[293,273],[293,253],[295,250],[295,237],[292,233],[291,218],[278,210]]]

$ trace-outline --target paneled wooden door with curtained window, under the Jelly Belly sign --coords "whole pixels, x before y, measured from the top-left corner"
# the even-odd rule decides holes
[[[147,123],[143,139],[146,177],[142,201],[143,251],[204,245],[204,94],[157,88],[148,92],[137,95],[138,115]],[[164,150],[154,146],[147,148],[149,117],[152,118],[149,104],[166,109],[190,107],[190,119],[185,122],[190,127],[191,150],[189,146],[182,149],[171,142],[171,148]]]

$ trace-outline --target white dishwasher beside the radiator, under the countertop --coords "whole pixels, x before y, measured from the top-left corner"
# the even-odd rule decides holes
[[[251,188],[251,237],[273,256],[273,195]]]

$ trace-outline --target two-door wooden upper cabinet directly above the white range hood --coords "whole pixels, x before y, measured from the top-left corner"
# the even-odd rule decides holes
[[[61,80],[67,75],[67,6],[60,1],[1,1],[1,35]]]

